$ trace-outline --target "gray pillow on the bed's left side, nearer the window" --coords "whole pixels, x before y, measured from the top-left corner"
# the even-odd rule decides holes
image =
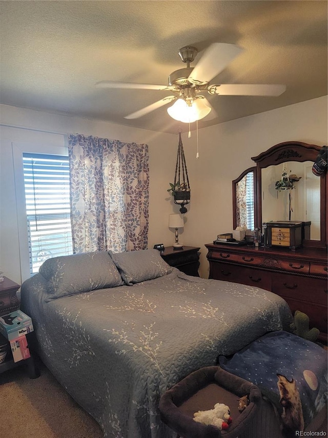
[[[46,301],[124,284],[107,251],[53,257],[40,266],[39,273],[48,280]]]

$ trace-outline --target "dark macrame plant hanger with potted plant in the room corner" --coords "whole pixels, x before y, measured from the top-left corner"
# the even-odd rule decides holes
[[[180,205],[180,213],[187,213],[187,208],[185,205],[189,204],[190,202],[190,185],[186,158],[181,140],[181,130],[179,130],[179,144],[175,166],[174,187],[174,203]]]

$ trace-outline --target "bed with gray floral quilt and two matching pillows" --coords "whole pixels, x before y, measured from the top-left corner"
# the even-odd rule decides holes
[[[161,394],[292,321],[278,295],[185,275],[157,250],[48,259],[20,308],[45,365],[111,438],[173,438]]]

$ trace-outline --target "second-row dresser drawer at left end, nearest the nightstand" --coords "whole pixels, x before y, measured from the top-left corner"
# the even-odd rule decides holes
[[[215,280],[232,281],[271,291],[270,272],[243,268],[229,263],[214,263],[210,274]]]

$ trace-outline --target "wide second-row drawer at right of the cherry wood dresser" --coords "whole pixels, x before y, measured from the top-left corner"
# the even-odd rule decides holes
[[[327,304],[327,282],[324,279],[288,274],[274,274],[272,277],[272,292],[278,295],[308,303]]]

